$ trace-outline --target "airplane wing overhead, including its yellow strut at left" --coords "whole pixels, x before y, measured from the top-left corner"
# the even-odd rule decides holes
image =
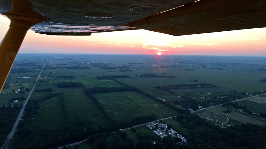
[[[0,0],[0,14],[11,20],[0,44],[1,88],[28,29],[77,36],[146,29],[180,36],[266,27],[265,0]]]

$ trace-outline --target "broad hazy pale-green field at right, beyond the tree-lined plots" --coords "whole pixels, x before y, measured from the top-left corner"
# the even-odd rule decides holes
[[[212,67],[212,66],[211,66]],[[217,67],[217,66],[216,66]],[[186,67],[167,68],[167,73],[186,80],[199,80],[208,84],[220,87],[238,90],[243,92],[265,91],[266,83],[259,82],[262,79],[262,73],[247,71],[232,72],[229,70],[238,70],[238,66],[226,66],[223,70],[193,68],[193,71],[184,70]],[[252,86],[252,88],[250,87]]]

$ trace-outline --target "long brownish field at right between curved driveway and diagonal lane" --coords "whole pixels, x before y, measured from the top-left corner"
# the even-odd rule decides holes
[[[235,112],[234,110],[231,110],[232,111],[231,113],[224,113],[222,111],[228,110],[228,109],[223,108],[223,107],[212,107],[212,108],[209,108],[209,110],[211,110],[215,113],[218,113],[220,115],[224,115],[226,117],[229,117],[230,119],[236,120],[236,121],[244,123],[244,124],[252,123],[252,124],[257,124],[257,125],[263,125],[266,123],[266,121],[261,122],[260,120],[257,120],[253,116],[247,116],[247,115],[244,115],[244,113],[243,114],[238,113],[238,112]]]

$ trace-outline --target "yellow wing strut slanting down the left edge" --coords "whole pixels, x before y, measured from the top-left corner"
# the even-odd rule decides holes
[[[31,5],[29,0],[12,0],[12,9],[2,13],[11,23],[0,43],[0,92],[28,29],[37,23],[49,20],[33,11]]]

